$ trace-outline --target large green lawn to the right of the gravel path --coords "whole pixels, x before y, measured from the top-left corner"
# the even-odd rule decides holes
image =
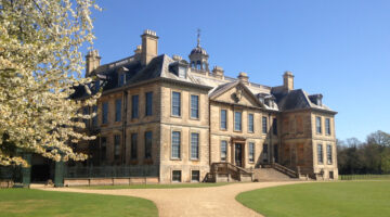
[[[390,181],[274,187],[240,193],[236,200],[266,217],[388,217]]]

